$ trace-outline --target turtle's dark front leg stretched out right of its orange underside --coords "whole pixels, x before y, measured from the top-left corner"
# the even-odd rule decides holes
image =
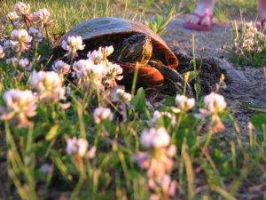
[[[149,64],[160,71],[172,92],[181,91],[188,97],[194,96],[191,85],[185,83],[184,78],[175,69],[168,68],[168,66],[153,60],[150,60]]]

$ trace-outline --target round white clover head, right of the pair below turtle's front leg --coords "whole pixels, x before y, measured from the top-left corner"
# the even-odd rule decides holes
[[[215,92],[211,92],[205,96],[204,103],[207,107],[207,111],[214,115],[226,108],[224,97]]]

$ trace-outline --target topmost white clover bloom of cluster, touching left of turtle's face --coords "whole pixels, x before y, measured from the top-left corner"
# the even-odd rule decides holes
[[[95,64],[100,62],[107,62],[107,57],[113,53],[113,46],[100,46],[98,50],[88,52],[87,57],[92,60]]]

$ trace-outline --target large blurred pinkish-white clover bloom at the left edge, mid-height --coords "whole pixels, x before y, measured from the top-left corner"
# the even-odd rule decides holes
[[[36,115],[36,97],[31,91],[10,90],[4,92],[3,100],[6,108],[0,107],[1,119],[28,126],[28,117]]]

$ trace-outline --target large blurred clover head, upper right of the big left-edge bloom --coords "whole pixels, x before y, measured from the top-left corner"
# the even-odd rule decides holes
[[[34,72],[30,84],[37,90],[41,100],[57,102],[66,99],[62,79],[56,72]]]

